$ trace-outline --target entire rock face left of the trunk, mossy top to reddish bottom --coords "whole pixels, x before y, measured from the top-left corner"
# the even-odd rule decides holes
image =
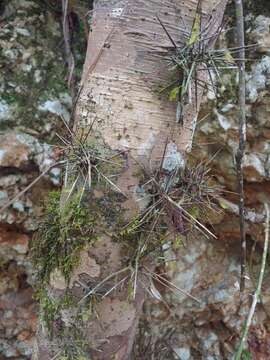
[[[3,4],[2,4],[3,3]],[[0,6],[0,208],[55,163],[52,143],[71,97],[60,18],[41,3]],[[29,241],[42,202],[58,186],[55,167],[0,213],[0,359],[30,359],[36,330]]]

